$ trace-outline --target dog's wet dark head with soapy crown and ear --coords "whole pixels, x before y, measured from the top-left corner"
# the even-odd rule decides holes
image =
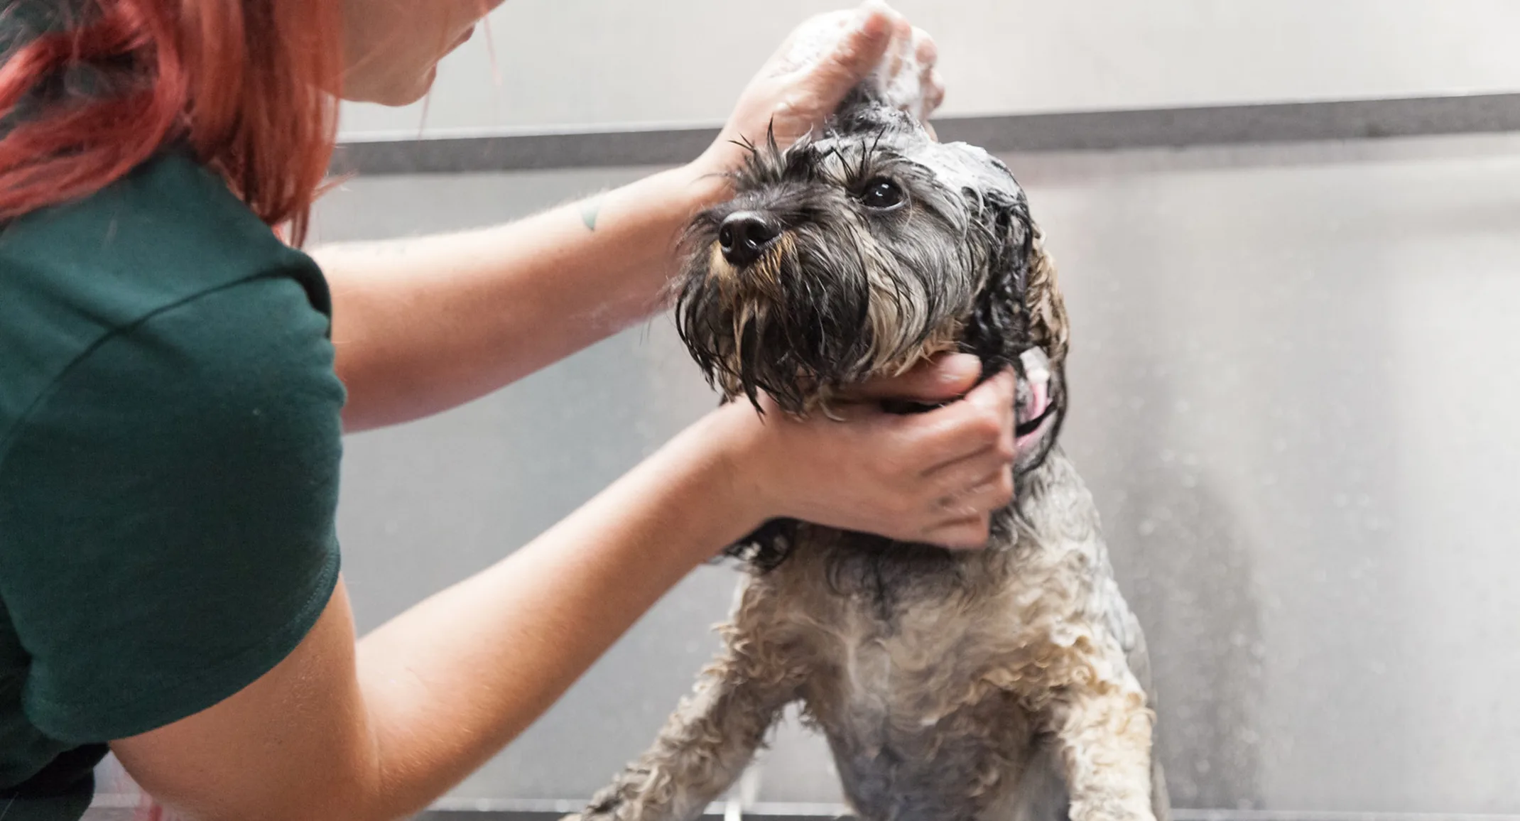
[[[684,240],[676,327],[725,395],[792,414],[941,351],[1018,369],[1018,470],[1066,409],[1066,313],[1023,190],[985,151],[848,102],[818,140],[755,149]]]

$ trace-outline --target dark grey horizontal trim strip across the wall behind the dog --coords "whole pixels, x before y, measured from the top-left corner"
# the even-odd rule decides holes
[[[1123,151],[1316,140],[1373,140],[1520,131],[1520,93],[1376,100],[1070,111],[935,120],[942,140],[993,152]],[[339,146],[339,173],[470,173],[684,163],[716,128],[565,131],[356,140]]]

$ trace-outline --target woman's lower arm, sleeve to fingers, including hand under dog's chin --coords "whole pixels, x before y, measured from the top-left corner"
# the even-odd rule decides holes
[[[961,357],[877,392],[970,386]],[[936,382],[930,382],[935,379]],[[423,809],[521,733],[693,566],[775,515],[976,544],[1012,494],[1012,380],[848,424],[730,404],[497,566],[365,637],[342,587],[274,670],[111,747],[187,821],[369,821]]]

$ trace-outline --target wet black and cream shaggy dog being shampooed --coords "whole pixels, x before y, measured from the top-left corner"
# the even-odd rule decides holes
[[[676,328],[708,380],[827,414],[941,351],[1014,368],[1015,500],[980,552],[787,520],[730,547],[722,652],[570,818],[699,816],[800,701],[863,821],[1167,821],[1145,637],[1056,445],[1067,315],[1018,182],[865,85],[821,135],[749,149],[684,239]]]

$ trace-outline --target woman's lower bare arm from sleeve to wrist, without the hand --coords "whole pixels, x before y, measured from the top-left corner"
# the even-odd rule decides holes
[[[547,708],[752,508],[692,436],[497,566],[354,645],[339,585],[233,698],[112,743],[187,821],[410,816]]]

